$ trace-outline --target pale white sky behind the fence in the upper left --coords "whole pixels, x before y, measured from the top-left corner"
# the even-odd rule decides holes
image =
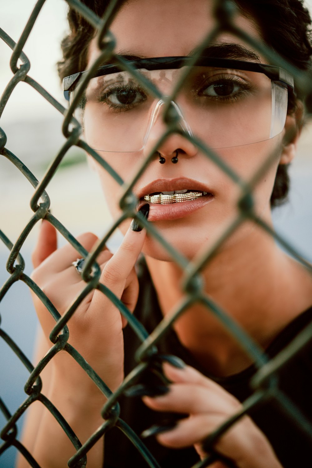
[[[0,27],[15,41],[21,35],[35,0],[2,1]],[[312,0],[306,1],[312,9]],[[67,4],[64,0],[46,0],[35,27],[25,44],[24,51],[30,59],[29,75],[65,105],[56,73],[56,62],[61,57],[60,41],[64,37]],[[0,41],[0,94],[12,78],[9,68],[11,51]],[[24,118],[46,119],[55,117],[55,110],[25,83],[15,88],[3,113],[4,121]]]

